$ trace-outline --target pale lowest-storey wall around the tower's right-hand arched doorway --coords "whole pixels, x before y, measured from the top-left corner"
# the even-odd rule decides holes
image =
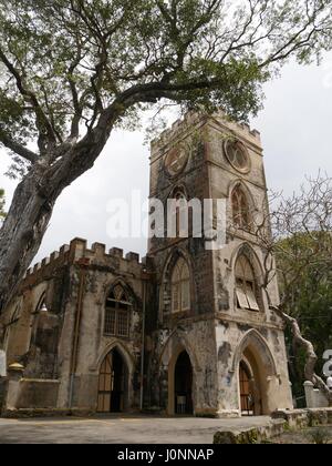
[[[245,325],[219,321],[216,327],[218,348],[218,415],[241,415],[239,363],[249,358],[257,384],[257,415],[277,408],[292,408],[283,332],[266,325]],[[247,354],[248,352],[248,354]]]

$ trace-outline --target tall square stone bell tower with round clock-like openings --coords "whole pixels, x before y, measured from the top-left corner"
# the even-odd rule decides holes
[[[187,114],[152,143],[151,199],[165,207],[164,234],[148,252],[158,296],[147,352],[152,403],[170,415],[220,417],[291,408],[283,325],[268,302],[278,305],[278,283],[262,286],[252,229],[268,210],[260,134],[222,112]],[[204,226],[206,219],[220,226],[216,205],[224,241],[211,247]]]

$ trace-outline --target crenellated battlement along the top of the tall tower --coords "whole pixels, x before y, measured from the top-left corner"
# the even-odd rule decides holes
[[[238,133],[245,139],[260,145],[260,132],[256,129],[251,129],[251,126],[247,123],[238,123],[227,116],[226,112],[219,110],[217,113],[209,115],[207,113],[197,113],[197,112],[188,112],[186,115],[177,121],[175,121],[170,128],[163,131],[156,139],[152,141],[152,152],[160,149],[170,141],[174,141],[183,135],[186,131],[190,128],[195,126],[200,122],[207,122],[209,120],[217,120],[225,125],[228,130]]]

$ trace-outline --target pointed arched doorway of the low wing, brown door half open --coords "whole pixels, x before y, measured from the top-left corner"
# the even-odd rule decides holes
[[[128,403],[128,369],[115,348],[102,363],[98,379],[98,413],[122,413]]]

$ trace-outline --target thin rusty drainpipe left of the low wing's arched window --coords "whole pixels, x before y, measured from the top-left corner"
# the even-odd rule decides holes
[[[74,326],[74,336],[73,336],[73,346],[72,346],[72,358],[71,358],[71,368],[70,368],[70,395],[69,395],[69,408],[73,407],[74,399],[74,381],[77,368],[77,355],[79,355],[79,344],[80,344],[80,330],[82,321],[82,311],[83,311],[83,296],[85,288],[86,280],[86,261],[80,261],[80,285],[79,285],[79,298],[76,305],[76,315],[75,315],[75,326]]]

